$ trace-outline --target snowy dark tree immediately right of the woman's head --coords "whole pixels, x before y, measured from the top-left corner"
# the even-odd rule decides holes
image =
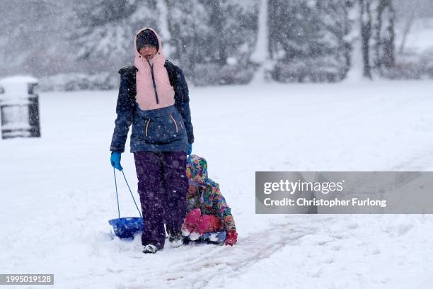
[[[168,1],[173,58],[195,84],[246,83],[257,1]],[[242,72],[243,69],[243,72]]]

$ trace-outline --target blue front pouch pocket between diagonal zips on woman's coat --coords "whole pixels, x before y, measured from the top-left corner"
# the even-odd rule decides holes
[[[180,124],[172,114],[146,118],[144,141],[154,145],[165,145],[180,137]]]

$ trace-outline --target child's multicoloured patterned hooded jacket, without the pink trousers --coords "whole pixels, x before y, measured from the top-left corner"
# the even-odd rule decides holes
[[[206,159],[191,154],[187,159],[186,174],[190,183],[186,196],[187,213],[200,209],[202,215],[218,217],[221,222],[221,230],[226,232],[236,230],[231,209],[219,191],[218,183],[209,179],[207,175]]]

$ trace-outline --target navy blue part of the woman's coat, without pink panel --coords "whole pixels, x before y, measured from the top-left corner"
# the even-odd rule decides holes
[[[175,91],[175,105],[150,111],[142,111],[135,101],[137,68],[120,69],[117,118],[110,151],[125,151],[131,124],[131,152],[180,152],[194,142],[185,76],[179,67],[169,61],[166,61],[165,67]]]

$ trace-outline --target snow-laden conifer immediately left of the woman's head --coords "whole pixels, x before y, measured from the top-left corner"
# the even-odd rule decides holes
[[[158,28],[157,18],[154,0],[79,2],[72,19],[76,29],[69,38],[78,48],[78,60],[88,63],[88,70],[116,70],[131,63],[137,31],[144,26]]]

